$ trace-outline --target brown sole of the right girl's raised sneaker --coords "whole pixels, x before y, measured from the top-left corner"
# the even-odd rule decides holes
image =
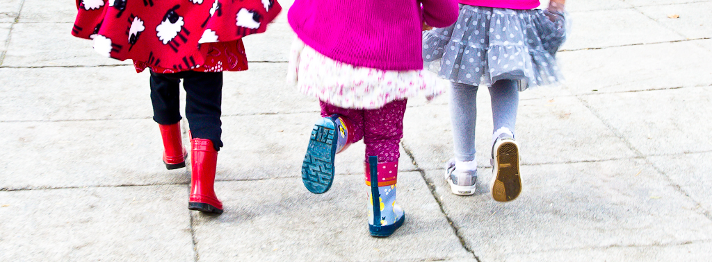
[[[519,148],[513,141],[503,141],[493,157],[492,197],[498,202],[515,200],[522,192],[519,176]]]

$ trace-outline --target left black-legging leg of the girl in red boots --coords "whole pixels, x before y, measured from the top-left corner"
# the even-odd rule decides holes
[[[173,74],[151,72],[151,103],[153,120],[158,124],[171,125],[180,121],[180,78]]]

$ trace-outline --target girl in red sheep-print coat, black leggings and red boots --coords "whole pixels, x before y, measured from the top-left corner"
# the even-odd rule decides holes
[[[167,169],[185,167],[179,112],[184,80],[192,180],[188,208],[221,214],[213,184],[221,136],[222,71],[247,70],[241,38],[262,33],[281,11],[275,0],[77,0],[72,34],[98,53],[150,69],[153,119]]]

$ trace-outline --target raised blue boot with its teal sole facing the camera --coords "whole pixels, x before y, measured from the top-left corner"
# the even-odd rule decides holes
[[[334,156],[355,138],[350,121],[334,114],[316,122],[302,163],[302,182],[309,192],[327,192],[334,181]]]

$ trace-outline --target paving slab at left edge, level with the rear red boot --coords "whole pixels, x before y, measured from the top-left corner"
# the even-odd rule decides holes
[[[152,119],[0,123],[0,190],[190,182]],[[185,135],[184,135],[185,136]]]

